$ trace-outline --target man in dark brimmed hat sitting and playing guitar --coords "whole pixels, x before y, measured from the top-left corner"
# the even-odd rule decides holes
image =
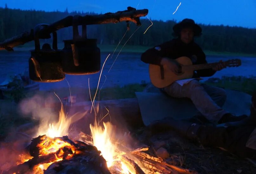
[[[161,78],[164,79],[163,69],[174,74],[182,74],[182,67],[175,61],[180,57],[188,57],[193,65],[207,64],[206,56],[202,49],[194,42],[195,36],[201,35],[201,27],[192,19],[184,19],[173,27],[177,37],[154,48],[148,49],[141,55],[145,63],[157,65],[161,69]],[[176,98],[190,98],[198,111],[213,123],[225,123],[239,121],[244,116],[233,116],[222,109],[226,100],[225,90],[219,87],[200,84],[198,78],[212,76],[216,71],[226,68],[226,64],[220,61],[212,68],[192,71],[192,78],[174,81],[167,86],[156,86],[163,89],[168,95]],[[194,73],[194,74],[193,74]]]

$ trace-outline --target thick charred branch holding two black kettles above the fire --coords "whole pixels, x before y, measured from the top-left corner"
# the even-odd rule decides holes
[[[135,8],[128,7],[128,10],[118,11],[116,13],[105,13],[103,15],[86,15],[81,16],[78,19],[78,25],[92,25],[92,24],[106,24],[106,23],[118,23],[122,21],[131,21],[137,25],[141,25],[139,18],[148,14],[147,9],[136,10]],[[67,16],[55,23],[48,26],[44,26],[39,30],[39,39],[50,38],[50,33],[58,29],[72,26],[73,16]],[[0,50],[6,49],[7,51],[13,51],[13,47],[23,45],[24,43],[34,40],[34,30],[30,32],[24,32],[20,35],[14,36],[10,39],[0,43]]]

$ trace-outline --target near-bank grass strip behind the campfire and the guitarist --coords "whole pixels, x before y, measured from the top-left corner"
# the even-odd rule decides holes
[[[215,81],[213,81],[215,80]],[[256,76],[249,78],[243,76],[226,77],[223,76],[221,79],[209,79],[204,83],[212,86],[222,87],[225,89],[237,90],[252,95],[253,91],[256,90]],[[129,84],[123,87],[104,87],[100,92],[100,98],[98,94],[95,100],[115,100],[125,98],[135,98],[135,92],[141,92],[147,84]],[[51,91],[39,91],[36,92],[38,95],[48,96],[49,94],[54,95],[53,90]],[[58,88],[54,90],[56,94],[63,99],[69,96],[69,88]],[[79,101],[90,101],[89,90],[83,87],[72,87],[72,95],[76,95],[77,102]],[[91,95],[93,96],[96,89],[91,89]],[[99,92],[99,91],[98,91]],[[26,97],[32,97],[34,93],[26,93]],[[54,96],[56,102],[59,100]],[[15,102],[9,100],[0,101],[0,139],[3,139],[11,127],[22,125],[26,122],[30,122],[31,119],[22,117],[18,111],[18,105]]]

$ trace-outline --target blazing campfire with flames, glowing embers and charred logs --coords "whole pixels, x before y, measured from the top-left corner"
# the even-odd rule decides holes
[[[47,129],[46,123],[39,125],[38,137],[19,155],[16,166],[3,173],[191,173],[150,155],[148,147],[128,148],[114,138],[109,122],[100,126],[95,121],[91,135],[80,132],[77,140],[69,139],[69,126],[85,114],[67,117],[61,107],[59,121]]]

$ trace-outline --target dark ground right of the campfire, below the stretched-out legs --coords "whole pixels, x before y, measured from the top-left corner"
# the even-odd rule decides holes
[[[146,127],[134,133],[136,139],[145,144],[156,144],[164,141],[162,146],[168,151],[170,157],[166,160],[170,164],[191,169],[198,173],[252,173],[256,172],[256,165],[247,159],[238,158],[219,148],[207,148],[179,136],[176,132],[157,133],[146,138]],[[156,148],[151,148],[151,151]]]

